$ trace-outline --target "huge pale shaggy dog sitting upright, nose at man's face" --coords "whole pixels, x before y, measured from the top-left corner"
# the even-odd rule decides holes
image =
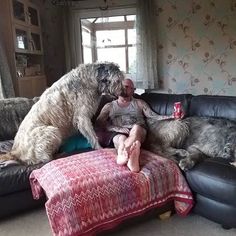
[[[100,148],[91,118],[102,93],[118,96],[123,74],[113,63],[85,64],[55,82],[22,121],[10,153],[0,160],[26,164],[53,158],[62,141],[80,131],[95,149]]]

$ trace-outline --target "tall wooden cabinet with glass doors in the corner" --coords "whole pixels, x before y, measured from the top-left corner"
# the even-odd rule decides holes
[[[30,0],[1,0],[3,36],[16,95],[39,96],[46,89],[39,8]],[[7,22],[8,21],[8,22]],[[10,27],[9,27],[10,26]],[[13,62],[12,62],[13,61]]]

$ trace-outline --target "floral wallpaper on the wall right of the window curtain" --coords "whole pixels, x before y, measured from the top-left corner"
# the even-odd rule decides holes
[[[236,0],[155,0],[160,89],[236,96]]]

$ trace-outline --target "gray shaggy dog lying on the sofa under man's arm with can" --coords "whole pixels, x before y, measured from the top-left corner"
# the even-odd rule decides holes
[[[189,117],[183,120],[147,120],[145,147],[174,159],[187,171],[207,157],[236,162],[236,123],[226,119]]]

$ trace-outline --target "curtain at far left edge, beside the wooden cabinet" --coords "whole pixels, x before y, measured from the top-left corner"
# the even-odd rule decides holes
[[[7,57],[0,39],[0,99],[15,97]]]

